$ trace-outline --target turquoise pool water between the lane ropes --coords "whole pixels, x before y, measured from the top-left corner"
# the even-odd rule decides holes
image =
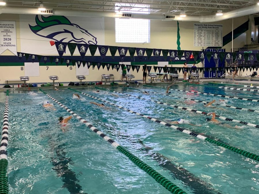
[[[161,86],[163,87],[163,86]],[[258,93],[230,91],[211,87],[180,85],[173,89],[195,90],[259,99]],[[164,89],[140,87],[148,92],[165,93]],[[258,152],[258,128],[228,128],[206,122],[208,116],[159,105],[151,101],[127,97],[119,91],[146,99],[159,100],[221,116],[259,124],[258,113],[204,107],[184,99],[158,94],[144,95],[138,90],[115,88],[94,93],[96,89],[80,89],[90,95],[116,103],[159,120],[189,120],[189,128],[255,154]],[[220,97],[171,91],[171,95],[212,101]],[[47,91],[52,97],[91,122],[93,126],[126,147],[134,155],[187,193],[247,193],[259,191],[259,163],[197,139],[167,126],[107,105],[100,108],[89,102],[98,100],[81,95],[73,99],[73,91]],[[62,132],[58,118],[69,114],[39,91],[10,92],[8,183],[9,193],[170,193],[151,176],[138,168],[125,155],[113,148],[75,117]],[[0,93],[0,110],[5,95]],[[54,104],[56,111],[42,107],[44,101]],[[258,102],[228,100],[227,105],[259,110]],[[220,120],[231,126],[241,124]],[[141,143],[141,141],[143,143]],[[145,147],[143,147],[143,145]]]

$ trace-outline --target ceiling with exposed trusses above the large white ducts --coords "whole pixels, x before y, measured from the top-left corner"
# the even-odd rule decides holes
[[[37,8],[41,2],[44,7],[53,9],[114,12],[120,8],[123,13],[149,11],[151,14],[178,15],[185,11],[187,16],[211,15],[218,10],[224,13],[258,3],[252,0],[6,0],[5,2],[8,7]]]

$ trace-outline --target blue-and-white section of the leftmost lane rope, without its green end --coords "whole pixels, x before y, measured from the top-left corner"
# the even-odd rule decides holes
[[[9,93],[9,92],[8,92]],[[0,145],[0,160],[7,160],[7,145],[8,145],[8,129],[9,129],[9,95],[5,97],[5,111],[3,116],[2,140]]]

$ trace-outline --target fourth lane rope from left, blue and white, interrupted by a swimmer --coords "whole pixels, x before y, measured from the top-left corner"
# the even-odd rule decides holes
[[[117,91],[113,91],[113,92],[123,94],[123,95],[127,95],[127,96],[132,96],[132,97],[135,97],[135,98],[141,99],[141,100],[147,100],[147,101],[155,102],[157,104],[163,104],[163,105],[174,107],[174,108],[181,109],[181,110],[196,112],[196,113],[200,113],[200,114],[203,114],[203,115],[208,114],[207,112],[202,112],[202,111],[191,109],[191,108],[185,108],[185,107],[176,106],[176,105],[173,105],[173,104],[168,104],[168,103],[164,103],[164,102],[160,102],[160,101],[156,101],[156,100],[145,99],[145,98],[142,98],[142,97],[133,96],[133,95],[130,95],[130,94],[125,94],[125,93],[121,93],[121,92],[117,92]],[[239,120],[235,120],[235,119],[231,119],[231,118],[226,118],[226,117],[220,116],[220,115],[216,115],[216,117],[219,118],[219,119],[225,120],[225,121],[236,122],[236,123],[240,123],[240,124],[243,124],[243,125],[248,125],[248,126],[251,126],[251,127],[259,128],[259,125],[256,125],[256,124],[253,124],[253,123],[248,123],[248,122],[239,121]]]

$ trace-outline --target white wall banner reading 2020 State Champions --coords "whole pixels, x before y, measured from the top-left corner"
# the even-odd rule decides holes
[[[9,50],[17,55],[15,21],[0,21],[0,28],[0,54]]]

